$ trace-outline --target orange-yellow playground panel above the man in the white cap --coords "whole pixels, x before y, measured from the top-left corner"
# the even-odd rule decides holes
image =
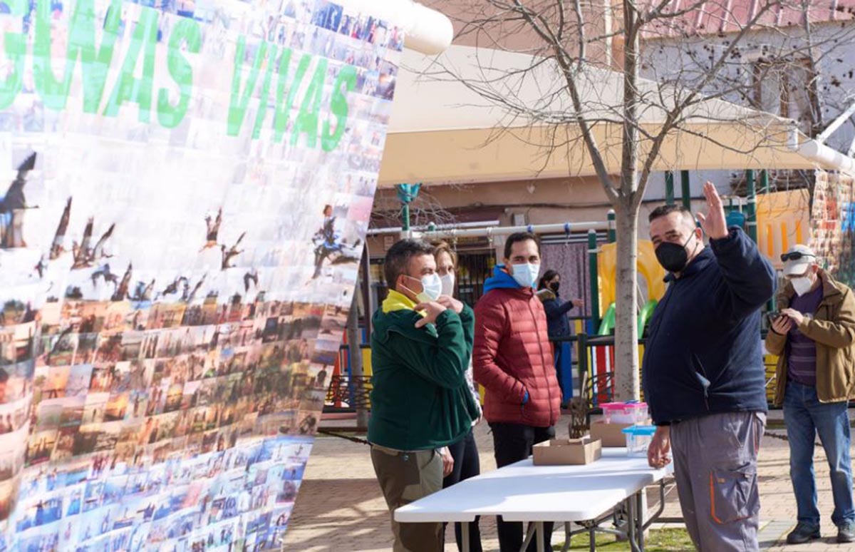
[[[810,238],[810,199],[806,189],[763,193],[757,197],[757,241],[775,269],[781,270],[781,253]]]

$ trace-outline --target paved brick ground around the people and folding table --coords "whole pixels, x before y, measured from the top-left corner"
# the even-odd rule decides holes
[[[775,418],[780,412],[770,413],[769,432],[783,435],[775,428]],[[563,420],[559,427],[566,427]],[[481,471],[493,470],[492,436],[486,424],[475,428],[478,449],[481,453]],[[803,546],[786,546],[783,537],[795,525],[795,503],[789,481],[789,454],[787,442],[766,436],[760,451],[759,479],[762,497],[761,546],[769,550],[787,552],[820,550],[855,550],[855,545],[834,542],[836,530],[831,524],[833,509],[828,464],[821,448],[815,458],[819,507],[823,513],[823,539]],[[651,505],[655,501],[651,492]],[[680,517],[676,492],[666,500],[664,516]],[[295,504],[290,526],[286,533],[286,550],[320,552],[335,550],[368,552],[391,549],[389,513],[374,479],[374,472],[366,445],[344,439],[319,436],[305,472],[302,488]],[[485,550],[498,550],[494,519],[481,521]],[[453,532],[449,531],[446,552],[456,550]],[[553,543],[563,541],[556,533]]]

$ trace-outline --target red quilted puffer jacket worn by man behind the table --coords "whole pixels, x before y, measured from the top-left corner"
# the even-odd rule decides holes
[[[543,304],[532,288],[496,288],[475,306],[475,381],[484,418],[534,427],[556,424],[561,408]],[[528,391],[528,402],[522,404]]]

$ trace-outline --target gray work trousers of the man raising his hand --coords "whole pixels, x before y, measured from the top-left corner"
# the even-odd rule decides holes
[[[722,413],[671,424],[680,507],[700,552],[758,550],[757,454],[764,413]]]

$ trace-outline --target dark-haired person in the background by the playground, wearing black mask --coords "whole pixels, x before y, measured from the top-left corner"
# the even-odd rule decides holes
[[[537,285],[537,296],[543,301],[550,339],[572,335],[567,313],[576,307],[585,306],[581,299],[562,301],[558,295],[560,286],[561,276],[558,276],[556,270],[546,270]],[[564,405],[573,397],[573,389],[567,389],[567,383],[572,385],[573,382],[573,346],[569,341],[552,341],[552,354],[555,356],[558,385],[561,386],[561,403]],[[564,377],[567,377],[567,382]]]

